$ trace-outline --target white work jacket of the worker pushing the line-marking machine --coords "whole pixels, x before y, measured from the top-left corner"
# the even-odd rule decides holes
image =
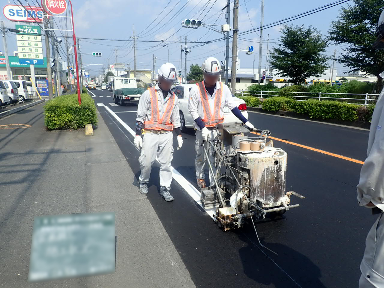
[[[211,113],[215,111],[214,109],[215,96],[216,96],[216,91],[218,89],[220,89],[219,81],[217,81],[216,87],[214,89],[214,93],[212,95],[210,95],[209,92],[207,91],[208,103],[209,103],[209,108],[211,110]],[[227,106],[230,110],[237,107],[228,86],[225,84],[222,84],[222,89],[223,91],[222,91],[222,97],[221,97],[221,103],[220,103],[220,118],[224,117],[224,106]],[[195,87],[192,87],[192,89],[189,92],[188,111],[192,119],[196,119],[199,117],[201,119],[204,119],[204,108],[203,108],[203,104],[201,103],[199,86],[197,85]],[[199,126],[197,126],[196,123],[195,123],[195,129],[200,130]]]

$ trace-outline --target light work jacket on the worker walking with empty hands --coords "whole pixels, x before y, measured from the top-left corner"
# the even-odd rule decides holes
[[[163,93],[156,84],[155,92],[157,94],[157,103],[159,105],[159,116],[163,116],[165,109],[167,108],[168,99],[171,94],[167,92],[167,97],[164,99]],[[150,121],[152,116],[152,105],[151,105],[151,94],[146,90],[140,97],[139,106],[137,106],[137,115],[136,121],[144,123],[145,121]],[[172,114],[170,121],[173,124],[174,128],[180,127],[180,112],[179,112],[179,99],[175,96],[175,101],[172,108]]]

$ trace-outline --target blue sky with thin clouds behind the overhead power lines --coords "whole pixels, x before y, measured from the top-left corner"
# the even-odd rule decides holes
[[[182,28],[180,31],[177,31],[181,28],[182,20],[184,20],[184,18],[194,16],[200,10],[200,8],[202,8],[204,4],[207,3],[207,1],[208,0],[171,0],[170,2],[169,0],[72,0],[76,36],[128,40],[129,37],[132,36],[134,26],[136,35],[139,35],[139,41],[137,42],[136,50],[137,68],[152,69],[152,54],[154,54],[154,56],[157,57],[157,70],[162,63],[167,61],[167,47],[163,47],[164,45],[162,44],[158,45],[159,43],[146,41],[166,39],[175,32],[175,35],[171,36],[168,41],[180,41],[181,36],[183,46],[185,36],[187,36],[188,40],[192,41],[197,41],[199,39],[199,41],[209,41],[222,37],[221,33],[217,33],[204,27],[200,27],[199,29]],[[2,0],[3,6],[7,5],[8,2],[10,4],[14,4],[13,0]],[[29,0],[22,0],[22,2],[28,2],[31,5],[33,3],[33,1]],[[319,4],[319,2],[311,3],[308,0],[265,0],[264,24],[275,22],[276,20],[290,17],[331,2],[333,2],[333,0],[327,0],[323,4]],[[225,23],[225,15],[221,12],[221,9],[226,5],[226,3],[226,0],[211,0],[207,8],[203,10],[200,18],[206,15],[203,22],[207,24],[213,24],[215,21],[217,21],[216,24],[219,25]],[[168,6],[166,7],[167,4]],[[255,28],[259,27],[261,0],[239,0],[239,5],[240,32],[252,29],[252,26]],[[342,5],[346,6],[346,4]],[[308,17],[300,18],[290,23],[305,26],[311,25],[314,28],[319,29],[323,35],[327,35],[330,23],[331,21],[336,20],[339,9],[342,7],[342,5],[315,13]],[[245,6],[247,6],[248,13]],[[158,16],[164,7],[166,7],[164,12],[162,12],[162,14],[155,20],[155,22],[143,32],[143,30]],[[169,12],[173,7],[174,9]],[[233,7],[233,2],[231,7]],[[176,13],[180,9],[182,10],[179,13]],[[209,9],[210,11],[208,12]],[[200,13],[201,12],[199,12],[199,14]],[[232,26],[232,11],[230,17]],[[14,22],[10,22],[9,20],[5,19],[3,15],[1,15],[1,20],[4,20],[5,26],[7,27],[14,27],[15,25]],[[61,18],[61,20],[63,20],[63,18]],[[65,25],[63,22],[59,22],[59,20],[57,20],[55,25],[56,24],[58,26]],[[277,44],[276,42],[280,37],[279,30],[280,26],[275,26],[263,31],[264,41],[266,41],[269,34],[270,44],[268,46],[268,50],[271,50],[271,48]],[[240,54],[241,68],[252,68],[254,58],[256,59],[255,67],[257,67],[259,49],[259,44],[255,43],[255,41],[258,41],[259,38],[257,33],[253,32],[243,36],[250,40],[238,41],[238,49],[244,49],[249,45],[253,45],[255,47],[254,55]],[[56,31],[56,35],[60,35],[60,32]],[[15,38],[16,37],[14,34],[8,34],[7,41],[10,55],[12,55],[12,51],[16,50]],[[103,53],[101,58],[92,57],[90,55],[83,55],[83,63],[103,64],[107,66],[108,63],[112,64],[115,62],[117,54],[119,63],[130,63],[131,67],[133,67],[133,50],[131,42],[81,40],[80,45],[82,53]],[[188,45],[189,47],[194,46],[193,43],[189,43]],[[62,48],[65,50],[65,45],[62,45]],[[168,48],[170,54],[170,62],[173,63],[178,69],[180,69],[180,43],[170,43],[168,44]],[[232,44],[230,44],[230,48],[232,48]],[[115,51],[114,49],[118,49],[118,51]],[[328,55],[333,55],[334,49],[341,51],[343,47],[329,46],[326,50],[326,53]],[[263,44],[262,55],[262,65],[265,66],[266,43]],[[336,53],[336,55],[338,55],[338,53]],[[198,63],[200,65],[202,61],[204,61],[204,59],[209,56],[214,56],[220,61],[223,61],[224,41],[193,48],[187,57],[187,70],[192,63]],[[89,66],[88,68],[91,68],[90,74],[95,75],[100,72],[101,67],[102,66],[93,65]],[[339,70],[339,74],[348,69],[343,68],[343,66],[338,63],[336,63],[336,68]]]

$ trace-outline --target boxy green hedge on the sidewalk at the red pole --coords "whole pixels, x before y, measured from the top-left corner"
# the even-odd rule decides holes
[[[52,129],[78,129],[86,124],[97,124],[97,109],[88,93],[64,94],[48,101],[44,106],[45,126]]]

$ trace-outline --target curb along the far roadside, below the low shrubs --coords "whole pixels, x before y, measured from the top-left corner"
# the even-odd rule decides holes
[[[265,111],[262,108],[257,108],[257,107],[247,107],[247,110],[253,111],[253,112],[258,112],[258,113],[263,113],[263,114],[269,114],[269,115],[285,116],[285,117],[295,118],[295,119],[299,119],[299,120],[307,120],[307,121],[313,121],[313,122],[325,122],[325,123],[337,124],[337,125],[342,125],[342,126],[358,127],[358,128],[368,129],[368,130],[371,127],[371,123],[369,123],[369,122],[364,122],[364,121],[351,122],[351,121],[341,121],[341,120],[333,120],[333,119],[313,119],[313,118],[310,118],[308,115],[298,114],[298,113],[292,112],[292,111],[279,110],[277,112],[270,112],[270,111]]]

